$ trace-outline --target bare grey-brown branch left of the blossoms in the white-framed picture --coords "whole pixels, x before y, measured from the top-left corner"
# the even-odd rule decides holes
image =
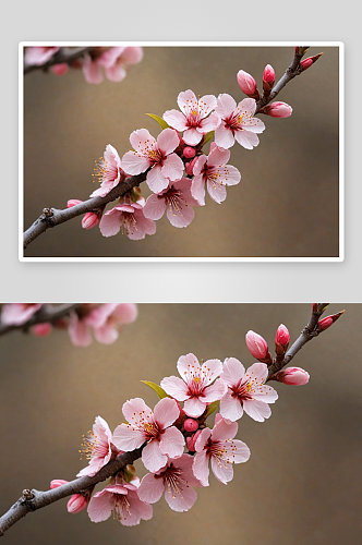
[[[96,196],[88,198],[88,201],[84,201],[84,203],[72,206],[71,208],[65,208],[64,210],[44,208],[41,216],[39,216],[24,233],[24,250],[33,240],[37,239],[39,234],[49,229],[49,227],[64,223],[64,221],[69,221],[87,211],[96,210],[97,208],[104,207],[107,203],[121,197],[128,191],[132,190],[132,187],[140,185],[140,183],[146,179],[147,172],[148,170],[141,174],[126,178],[125,180],[123,178],[123,180],[121,180],[105,197]]]

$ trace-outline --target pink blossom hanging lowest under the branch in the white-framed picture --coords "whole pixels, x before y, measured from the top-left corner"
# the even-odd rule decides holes
[[[131,240],[142,240],[146,234],[155,234],[155,221],[147,219],[143,208],[145,199],[138,198],[136,203],[130,198],[107,210],[99,223],[100,232],[104,237],[113,237],[120,231]]]

